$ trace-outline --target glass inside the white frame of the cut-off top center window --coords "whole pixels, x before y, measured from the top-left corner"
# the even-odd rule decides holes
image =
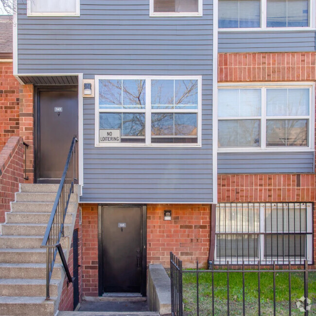
[[[154,0],[154,12],[198,12],[198,0]]]

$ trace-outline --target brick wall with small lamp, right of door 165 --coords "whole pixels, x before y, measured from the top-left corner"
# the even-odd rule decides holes
[[[165,221],[164,210],[172,211]],[[206,266],[210,249],[211,206],[205,204],[147,205],[147,263],[169,267],[170,251],[194,267]]]

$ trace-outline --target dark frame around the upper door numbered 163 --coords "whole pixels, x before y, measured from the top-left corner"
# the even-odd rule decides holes
[[[40,91],[76,91],[78,92],[78,86],[35,86],[34,87],[34,182],[39,183],[39,92]],[[78,124],[79,126],[79,124]],[[50,180],[42,180],[40,183],[52,183]],[[59,183],[59,181],[58,181]]]

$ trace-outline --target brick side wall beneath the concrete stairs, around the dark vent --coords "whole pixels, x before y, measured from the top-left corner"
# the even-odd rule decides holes
[[[82,300],[82,226],[79,223],[79,214],[78,209],[76,222],[74,229],[78,229],[78,264],[81,265],[78,268],[78,283],[79,283],[79,302]],[[57,254],[57,256],[59,256]],[[73,276],[73,241],[71,240],[70,252],[68,257],[67,265],[70,270],[70,275]],[[65,276],[62,294],[59,302],[60,311],[73,311],[73,284],[67,282],[68,279]],[[67,284],[68,283],[68,284]]]

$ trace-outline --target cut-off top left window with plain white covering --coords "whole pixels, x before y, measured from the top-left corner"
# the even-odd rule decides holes
[[[80,16],[80,0],[28,0],[28,16]]]

